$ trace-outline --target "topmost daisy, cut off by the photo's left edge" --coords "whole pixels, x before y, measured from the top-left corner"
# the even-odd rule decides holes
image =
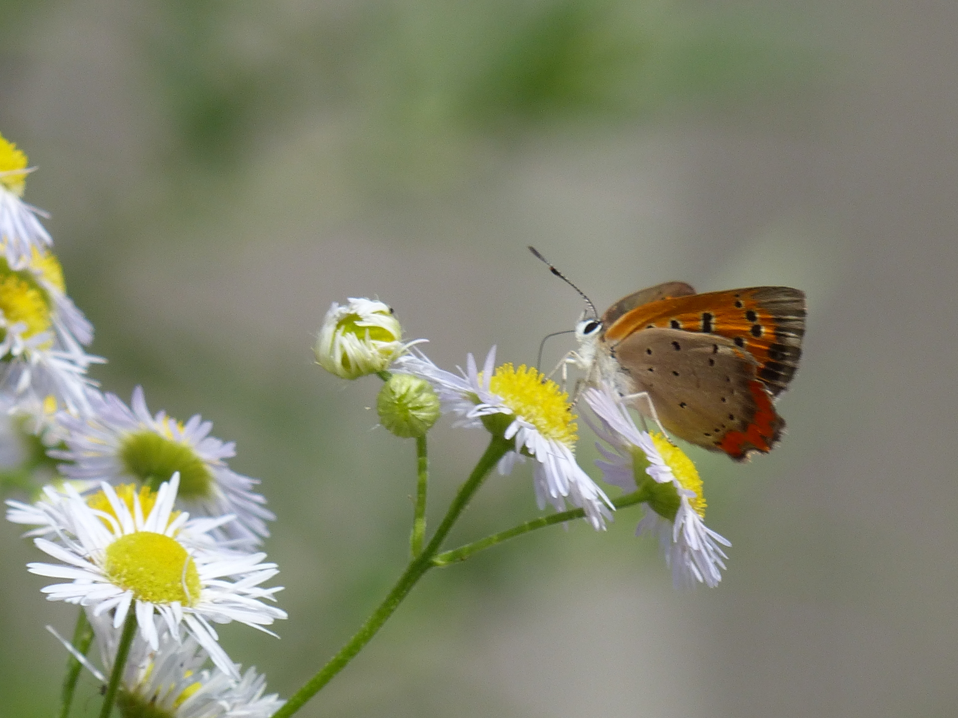
[[[29,258],[34,249],[44,251],[54,243],[37,216],[46,216],[23,201],[27,155],[0,136],[0,241],[14,258]]]

